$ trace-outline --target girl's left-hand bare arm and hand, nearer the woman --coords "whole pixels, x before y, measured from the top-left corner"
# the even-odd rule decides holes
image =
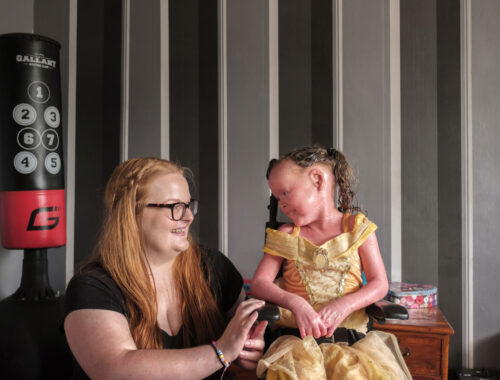
[[[291,310],[302,337],[324,336],[326,326],[312,306],[304,298],[287,292],[274,283],[282,262],[282,257],[264,254],[252,279],[252,294]]]

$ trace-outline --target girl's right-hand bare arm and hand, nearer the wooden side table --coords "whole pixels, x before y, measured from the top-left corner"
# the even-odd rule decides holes
[[[327,336],[331,336],[349,314],[380,300],[389,289],[375,233],[365,240],[358,252],[367,283],[356,292],[333,300],[319,312],[328,327]]]

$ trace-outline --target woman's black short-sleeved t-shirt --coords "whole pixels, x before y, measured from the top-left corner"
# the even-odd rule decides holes
[[[217,250],[201,247],[206,257],[204,272],[210,273],[210,288],[217,300],[222,315],[231,309],[243,286],[240,273],[229,259]],[[65,295],[64,318],[75,310],[111,310],[128,317],[125,298],[113,279],[99,267],[75,275],[68,284]],[[163,348],[184,348],[182,328],[177,335],[168,335],[161,330]],[[76,360],[73,359],[73,379],[89,379]],[[220,378],[220,375],[219,375]]]

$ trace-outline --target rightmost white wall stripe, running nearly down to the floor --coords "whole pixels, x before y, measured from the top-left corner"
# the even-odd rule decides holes
[[[472,173],[472,71],[471,1],[461,0],[461,76],[462,76],[462,334],[463,364],[474,367],[474,210]]]

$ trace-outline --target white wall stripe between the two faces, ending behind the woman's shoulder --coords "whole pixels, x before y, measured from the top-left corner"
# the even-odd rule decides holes
[[[219,0],[219,250],[228,254],[227,0]]]

